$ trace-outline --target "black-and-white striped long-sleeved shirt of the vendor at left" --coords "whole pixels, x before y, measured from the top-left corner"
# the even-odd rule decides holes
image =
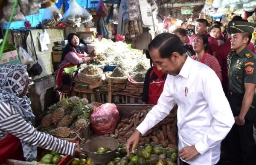
[[[0,140],[4,139],[8,133],[49,151],[75,155],[75,143],[37,131],[20,116],[16,109],[12,108],[9,102],[0,102]]]

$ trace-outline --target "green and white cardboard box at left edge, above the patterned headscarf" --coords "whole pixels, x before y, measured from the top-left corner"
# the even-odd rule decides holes
[[[9,63],[12,63],[12,64],[20,63],[17,50],[12,50],[2,54],[2,58],[0,60],[0,67]]]

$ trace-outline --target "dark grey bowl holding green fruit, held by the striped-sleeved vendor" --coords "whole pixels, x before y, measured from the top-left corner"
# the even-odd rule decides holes
[[[107,164],[114,159],[116,155],[116,149],[118,148],[118,141],[112,137],[98,137],[90,140],[87,143],[81,144],[82,151],[86,152],[96,164]],[[107,147],[110,152],[103,154],[96,154],[99,147]]]

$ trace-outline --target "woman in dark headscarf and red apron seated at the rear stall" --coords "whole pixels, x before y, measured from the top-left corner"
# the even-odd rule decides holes
[[[93,59],[96,56],[96,51],[93,50],[90,55],[84,52],[83,48],[79,46],[79,37],[75,33],[70,33],[67,35],[68,44],[65,46],[61,54],[61,64],[60,69],[57,70],[57,75],[55,78],[55,86],[58,89],[62,84],[62,72],[66,67],[72,67],[74,65],[79,65]]]

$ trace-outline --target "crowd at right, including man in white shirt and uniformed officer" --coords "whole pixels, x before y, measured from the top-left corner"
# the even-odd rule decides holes
[[[183,22],[173,34],[160,34],[149,44],[154,68],[168,76],[156,106],[128,139],[126,151],[133,152],[139,137],[177,103],[183,164],[218,164],[224,140],[229,164],[255,165],[256,55],[250,40],[256,25],[236,16],[225,32],[220,22],[210,26],[205,19],[196,20],[194,32],[189,26]]]

